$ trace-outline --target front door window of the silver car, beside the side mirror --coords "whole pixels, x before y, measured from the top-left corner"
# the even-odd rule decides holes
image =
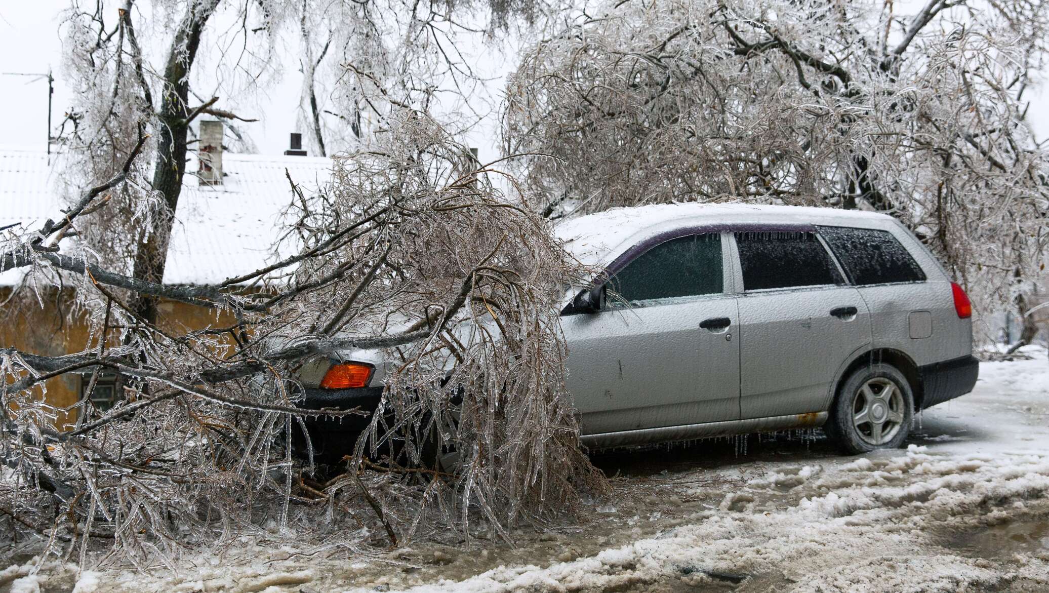
[[[721,235],[689,235],[662,242],[626,264],[608,284],[629,303],[722,293]]]

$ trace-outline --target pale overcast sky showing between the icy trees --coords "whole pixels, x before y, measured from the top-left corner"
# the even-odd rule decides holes
[[[914,0],[912,0],[913,2]],[[51,69],[56,77],[53,124],[62,121],[69,104],[69,92],[63,84],[61,72],[62,43],[59,38],[60,10],[68,6],[67,0],[34,0],[31,2],[0,0],[0,72],[45,73]],[[504,76],[512,67],[512,59],[484,52],[489,62],[485,70],[495,80],[489,85],[497,94]],[[266,91],[264,97],[245,106],[244,117],[258,117],[262,121],[249,128],[259,151],[280,154],[287,148],[287,134],[296,128],[300,75],[297,66],[285,68],[280,83]],[[43,77],[0,77],[0,145],[44,147],[47,134],[47,82]],[[1031,93],[1029,119],[1039,140],[1049,137],[1049,92],[1037,89]],[[254,112],[252,112],[254,111]],[[493,120],[494,125],[494,120]],[[477,130],[471,143],[480,148],[481,161],[496,156],[494,133],[489,129]]]

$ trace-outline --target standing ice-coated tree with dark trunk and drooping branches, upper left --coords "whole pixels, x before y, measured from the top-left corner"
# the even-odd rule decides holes
[[[333,142],[325,142],[326,134],[340,141],[337,150],[360,148],[349,140],[370,131],[366,120],[385,128],[404,108],[430,112],[437,92],[454,91],[472,76],[455,36],[484,31],[459,19],[484,25],[487,15],[494,27],[511,12],[528,14],[538,4],[478,0],[451,10],[446,2],[406,0],[70,1],[64,31],[65,66],[77,97],[64,139],[70,186],[102,184],[140,135],[151,136],[135,163],[151,175],[114,191],[116,206],[83,229],[83,239],[109,266],[154,283],[164,278],[184,181],[194,173],[187,170],[194,122],[201,115],[255,121],[221,108],[213,89],[226,91],[222,102],[236,102],[276,78],[281,62],[295,61],[278,51],[285,30],[301,39],[306,130],[317,152],[328,154]],[[201,73],[200,62],[220,72],[220,80]],[[318,71],[337,101],[327,104],[318,94]],[[156,321],[155,299],[131,298],[136,313]]]

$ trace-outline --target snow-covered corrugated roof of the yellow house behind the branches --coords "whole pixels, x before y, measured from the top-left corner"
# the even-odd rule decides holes
[[[0,147],[0,228],[39,226],[61,216],[55,154]],[[187,166],[197,170],[195,155]],[[222,156],[222,184],[201,186],[187,175],[178,198],[164,281],[169,284],[220,282],[272,261],[272,246],[291,203],[287,174],[304,189],[330,179],[331,160],[314,156]],[[0,284],[20,278],[0,274]]]

